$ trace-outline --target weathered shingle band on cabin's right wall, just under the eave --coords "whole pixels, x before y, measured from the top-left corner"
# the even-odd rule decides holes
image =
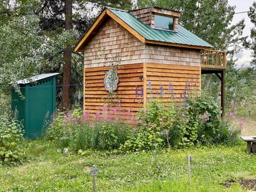
[[[201,53],[200,50],[147,44],[145,62],[199,67],[201,65]]]

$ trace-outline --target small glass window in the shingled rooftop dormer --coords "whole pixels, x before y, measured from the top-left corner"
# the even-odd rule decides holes
[[[174,18],[155,14],[155,28],[174,30]]]

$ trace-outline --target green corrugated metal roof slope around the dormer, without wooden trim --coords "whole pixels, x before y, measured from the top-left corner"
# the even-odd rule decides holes
[[[196,36],[180,25],[178,26],[177,32],[153,29],[145,25],[142,21],[135,18],[127,11],[112,9],[110,7],[107,7],[107,9],[147,40],[191,46],[213,47],[211,44],[207,43],[202,38]]]

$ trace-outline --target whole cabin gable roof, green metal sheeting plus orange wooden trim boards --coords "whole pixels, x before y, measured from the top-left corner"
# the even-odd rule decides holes
[[[145,25],[145,23],[135,18],[128,11],[106,7],[87,31],[85,36],[77,44],[75,47],[76,52],[82,52],[84,50],[86,42],[95,34],[95,30],[97,30],[101,23],[108,17],[114,19],[119,25],[130,31],[130,33],[140,39],[143,43],[190,47],[194,49],[211,49],[211,47],[213,47],[211,44],[180,25],[177,32],[154,29]]]

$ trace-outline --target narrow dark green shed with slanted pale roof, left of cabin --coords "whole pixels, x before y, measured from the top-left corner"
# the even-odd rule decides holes
[[[18,81],[22,96],[12,89],[12,110],[23,121],[25,138],[41,137],[45,119],[50,119],[56,104],[56,76],[41,74]]]

